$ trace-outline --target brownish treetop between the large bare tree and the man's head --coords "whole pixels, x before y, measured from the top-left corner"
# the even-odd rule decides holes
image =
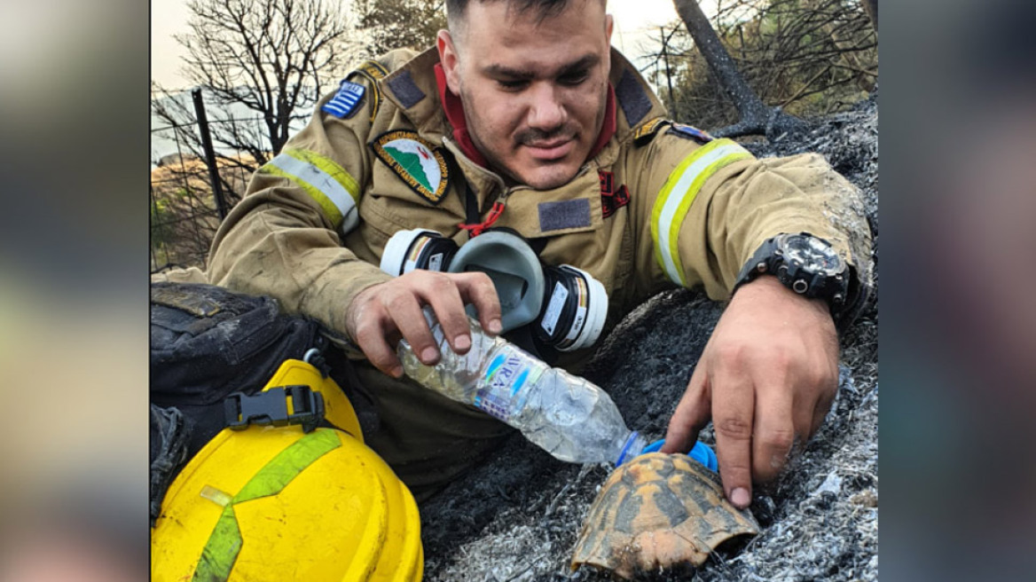
[[[427,49],[447,27],[444,0],[356,0],[354,10],[369,35],[370,57],[393,49]]]

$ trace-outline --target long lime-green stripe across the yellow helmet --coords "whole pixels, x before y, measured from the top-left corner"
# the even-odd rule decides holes
[[[220,521],[202,550],[194,580],[227,580],[243,541],[237,528],[234,504],[277,495],[291,479],[328,450],[342,445],[330,429],[317,429],[295,441],[270,460],[223,508]]]

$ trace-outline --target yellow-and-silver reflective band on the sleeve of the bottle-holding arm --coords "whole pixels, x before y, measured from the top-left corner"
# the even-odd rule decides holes
[[[359,225],[356,211],[359,186],[334,159],[304,149],[285,149],[259,171],[288,178],[301,186],[342,232]]]

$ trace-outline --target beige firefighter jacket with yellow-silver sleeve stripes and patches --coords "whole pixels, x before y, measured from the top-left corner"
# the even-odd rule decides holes
[[[604,285],[606,330],[666,288],[728,297],[745,262],[781,232],[824,237],[857,267],[870,256],[858,192],[821,155],[755,159],[730,140],[694,139],[666,121],[629,61],[611,56],[615,134],[571,182],[546,192],[508,187],[464,155],[439,103],[434,49],[365,63],[349,77],[365,87],[356,110],[322,112],[324,97],[255,174],[212,242],[209,281],[271,295],[344,333],[352,297],[390,278],[378,263],[394,233],[467,240],[458,226],[467,186],[482,219],[503,202],[494,226],[543,239],[545,263]]]

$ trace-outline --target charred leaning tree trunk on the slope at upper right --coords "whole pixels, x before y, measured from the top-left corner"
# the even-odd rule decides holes
[[[691,33],[694,45],[709,63],[709,69],[719,81],[720,88],[738,109],[739,121],[712,132],[713,135],[737,137],[765,134],[769,138],[802,125],[802,121],[798,118],[781,112],[780,109],[767,107],[748,86],[695,0],[673,0],[673,4],[677,6],[680,19],[687,26],[687,31]]]

